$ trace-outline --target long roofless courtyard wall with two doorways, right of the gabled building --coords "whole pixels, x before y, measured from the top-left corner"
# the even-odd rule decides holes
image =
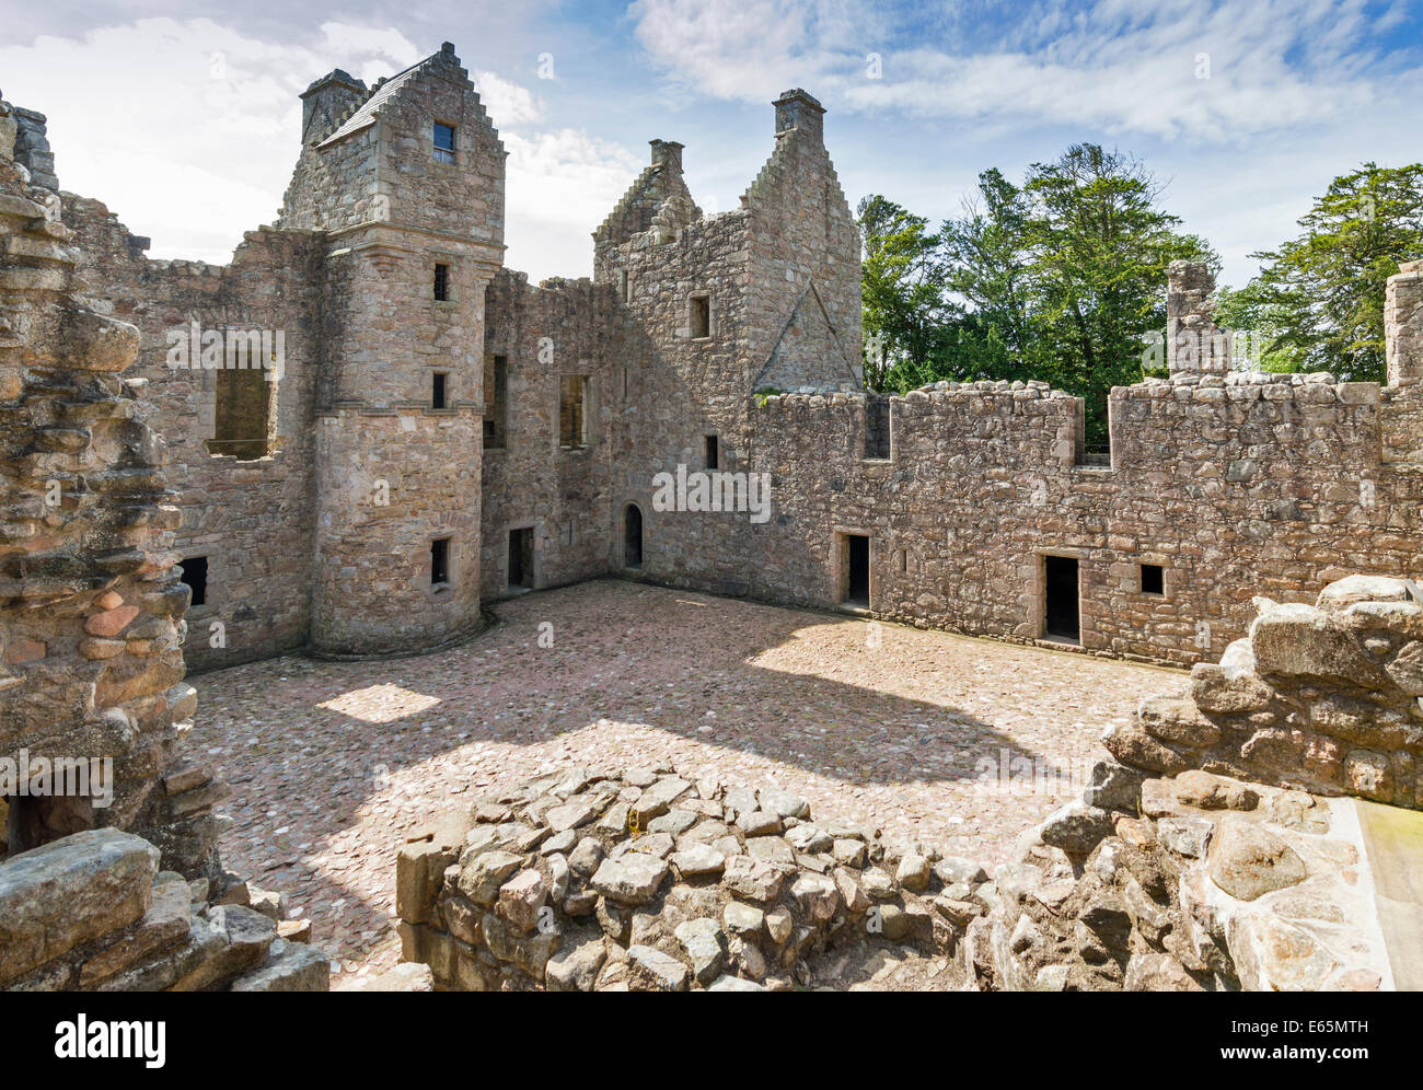
[[[891,398],[884,465],[864,460],[861,398],[773,397],[751,464],[774,474],[781,559],[751,586],[832,605],[834,535],[865,532],[874,612],[1036,639],[1040,558],[1073,556],[1081,646],[1215,657],[1254,589],[1298,600],[1349,572],[1413,569],[1423,481],[1382,462],[1379,410],[1377,386],[1328,376],[1148,380],[1113,390],[1111,465],[1087,467],[1074,398],[941,383]],[[1164,569],[1160,593],[1143,591],[1143,563]]]

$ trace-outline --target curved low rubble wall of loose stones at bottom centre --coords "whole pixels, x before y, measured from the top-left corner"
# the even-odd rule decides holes
[[[986,879],[773,787],[571,768],[416,830],[396,908],[444,989],[785,990],[832,949],[952,952]]]

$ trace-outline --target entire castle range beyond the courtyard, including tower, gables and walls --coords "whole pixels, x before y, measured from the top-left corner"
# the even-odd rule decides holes
[[[1210,273],[1173,265],[1170,374],[1111,391],[1101,464],[1081,403],[1040,383],[867,396],[824,110],[787,91],[773,132],[710,216],[696,149],[653,139],[591,282],[502,268],[504,149],[448,44],[374,87],[312,84],[280,216],[228,266],[149,260],[65,195],[181,467],[189,662],[438,647],[488,602],[615,573],[1188,666],[1257,593],[1417,573],[1414,265],[1389,282],[1383,387],[1231,370]],[[194,323],[283,333],[280,370],[169,366]],[[768,515],[663,502],[659,474],[713,467],[733,508],[768,474]]]

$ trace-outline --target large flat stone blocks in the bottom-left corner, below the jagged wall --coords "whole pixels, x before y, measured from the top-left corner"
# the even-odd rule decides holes
[[[326,955],[280,898],[158,869],[159,851],[90,830],[0,862],[0,990],[324,992]],[[286,938],[283,938],[283,933]],[[299,941],[300,939],[300,941]]]

